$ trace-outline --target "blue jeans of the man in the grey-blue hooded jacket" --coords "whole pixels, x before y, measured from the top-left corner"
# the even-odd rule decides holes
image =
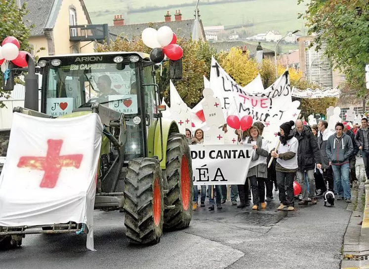
[[[333,174],[335,178],[335,187],[339,196],[344,199],[351,199],[350,190],[350,164],[341,166],[333,166]]]

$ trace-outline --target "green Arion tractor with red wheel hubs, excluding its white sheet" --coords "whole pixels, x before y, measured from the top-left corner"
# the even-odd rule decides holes
[[[29,57],[27,69],[12,64],[9,68],[4,90],[13,89],[14,76],[28,72],[25,107],[13,111],[46,118],[99,114],[105,129],[95,209],[124,212],[131,242],[155,244],[163,230],[189,226],[193,200],[190,149],[176,122],[162,118],[165,106],[156,84],[157,65],[148,54],[46,56],[37,66]],[[42,75],[41,89],[38,73]],[[179,78],[181,73],[181,62],[171,61],[171,78]],[[0,247],[20,246],[26,234],[76,232],[81,227],[72,222],[0,227]]]

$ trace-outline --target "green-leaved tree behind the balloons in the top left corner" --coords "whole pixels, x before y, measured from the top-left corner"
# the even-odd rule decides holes
[[[28,38],[31,30],[24,25],[23,17],[28,13],[26,1],[18,7],[15,0],[0,0],[0,41],[7,36],[14,36],[19,40],[20,49],[27,51],[30,48]],[[20,81],[16,81],[20,83]],[[2,90],[2,73],[0,76],[0,97],[9,98],[9,92]],[[4,103],[0,101],[0,108]]]

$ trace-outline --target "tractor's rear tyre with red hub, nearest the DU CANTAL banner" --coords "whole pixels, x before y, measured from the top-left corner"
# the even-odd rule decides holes
[[[173,209],[164,211],[164,230],[187,228],[192,219],[194,187],[191,151],[184,134],[170,134],[166,147],[167,198]]]

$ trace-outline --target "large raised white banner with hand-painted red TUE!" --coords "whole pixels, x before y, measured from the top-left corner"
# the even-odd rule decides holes
[[[288,71],[267,89],[260,89],[261,93],[250,94],[245,92],[244,88],[238,85],[212,58],[210,88],[214,92],[214,97],[220,99],[223,109],[227,110],[231,99],[235,98],[241,117],[250,115],[253,121],[263,123],[270,117],[281,119],[292,103]]]

